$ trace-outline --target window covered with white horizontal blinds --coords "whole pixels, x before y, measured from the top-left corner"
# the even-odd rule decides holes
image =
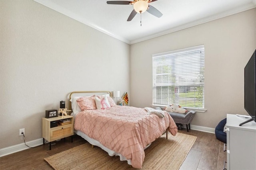
[[[152,56],[153,105],[204,109],[204,45]]]

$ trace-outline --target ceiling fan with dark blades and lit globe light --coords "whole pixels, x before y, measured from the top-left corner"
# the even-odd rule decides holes
[[[133,5],[134,10],[132,10],[130,16],[127,19],[127,21],[131,21],[136,16],[137,13],[142,14],[145,11],[149,12],[153,16],[160,18],[163,14],[153,6],[148,5],[148,3],[154,2],[154,1],[157,1],[157,0],[107,1],[107,4]]]

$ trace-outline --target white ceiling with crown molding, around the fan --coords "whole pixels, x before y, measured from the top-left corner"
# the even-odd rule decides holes
[[[163,16],[148,12],[126,21],[132,5],[107,0],[34,0],[128,44],[172,33],[201,23],[256,8],[256,0],[158,0],[150,5]]]

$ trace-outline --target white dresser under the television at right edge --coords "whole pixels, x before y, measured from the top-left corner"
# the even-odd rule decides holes
[[[227,114],[227,169],[256,170],[256,122]]]

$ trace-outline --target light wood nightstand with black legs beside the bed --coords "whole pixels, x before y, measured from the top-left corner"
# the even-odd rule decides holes
[[[64,119],[70,119],[70,122],[61,123]],[[66,117],[42,117],[42,137],[50,142],[50,150],[52,141],[62,139],[71,136],[71,142],[73,142],[74,135],[74,117],[67,115]]]

